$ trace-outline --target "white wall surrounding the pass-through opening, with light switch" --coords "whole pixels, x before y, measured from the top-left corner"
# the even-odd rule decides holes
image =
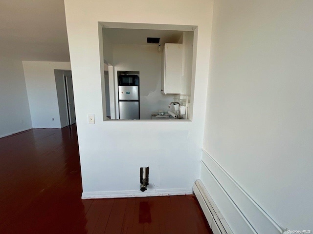
[[[127,11],[119,14],[121,5]],[[192,193],[192,185],[200,175],[213,1],[173,0],[169,3],[161,0],[155,4],[146,0],[65,0],[65,7],[75,77],[83,197],[92,192],[98,197],[108,193],[116,195],[114,191],[122,195],[129,194],[129,191],[135,191],[135,195],[155,191],[156,195],[160,190],[166,190],[168,194],[177,191]],[[159,27],[156,24],[199,26],[194,53],[197,70],[193,77],[192,121],[102,121],[103,61],[99,21],[152,23],[153,28]],[[171,25],[165,27],[174,28]],[[185,28],[195,29],[182,26],[180,30]],[[94,125],[87,124],[89,113],[95,114]],[[121,142],[124,142],[123,146]],[[145,194],[139,192],[140,166],[150,166],[151,184]]]

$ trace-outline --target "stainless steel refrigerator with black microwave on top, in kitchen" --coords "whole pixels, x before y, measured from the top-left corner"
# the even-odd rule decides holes
[[[120,75],[118,78],[120,119],[139,119],[139,77]]]

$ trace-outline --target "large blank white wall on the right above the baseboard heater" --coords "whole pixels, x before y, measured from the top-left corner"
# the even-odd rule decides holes
[[[312,9],[311,0],[214,1],[203,148],[291,230],[313,230]]]

